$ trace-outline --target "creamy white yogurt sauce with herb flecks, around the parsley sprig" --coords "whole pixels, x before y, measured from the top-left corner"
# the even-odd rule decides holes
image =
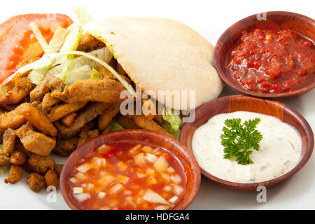
[[[226,119],[260,118],[257,130],[262,134],[260,150],[253,150],[251,165],[239,165],[223,158],[221,134]],[[261,113],[237,111],[221,113],[199,127],[193,135],[193,153],[200,167],[220,179],[237,183],[268,181],[293,169],[301,156],[302,140],[295,128],[279,118]]]

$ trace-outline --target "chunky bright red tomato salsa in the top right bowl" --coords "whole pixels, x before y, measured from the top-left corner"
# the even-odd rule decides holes
[[[230,52],[232,78],[246,90],[280,93],[314,83],[314,45],[290,29],[243,32]]]

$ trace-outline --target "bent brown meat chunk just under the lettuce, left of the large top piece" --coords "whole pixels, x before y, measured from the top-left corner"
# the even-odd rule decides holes
[[[64,81],[61,78],[55,76],[46,76],[41,84],[37,85],[34,90],[30,92],[31,102],[41,102],[45,94],[48,92],[54,92],[55,94],[61,94],[64,90]]]

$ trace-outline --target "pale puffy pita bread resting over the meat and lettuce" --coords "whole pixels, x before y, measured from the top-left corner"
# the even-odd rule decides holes
[[[162,18],[94,20],[85,32],[106,43],[126,73],[142,90],[174,109],[195,109],[216,99],[223,83],[214,69],[214,46],[181,22]],[[181,103],[195,91],[195,104]],[[177,97],[177,98],[176,98]],[[179,99],[180,97],[180,99]],[[176,99],[178,99],[176,101]],[[176,101],[176,102],[175,102]]]

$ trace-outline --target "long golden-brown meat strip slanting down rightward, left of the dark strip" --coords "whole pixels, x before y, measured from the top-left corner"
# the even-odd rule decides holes
[[[35,106],[24,103],[18,106],[15,110],[20,111],[20,114],[25,117],[32,125],[34,125],[43,134],[48,134],[52,137],[57,135],[57,129],[50,123],[48,117],[44,116]]]

